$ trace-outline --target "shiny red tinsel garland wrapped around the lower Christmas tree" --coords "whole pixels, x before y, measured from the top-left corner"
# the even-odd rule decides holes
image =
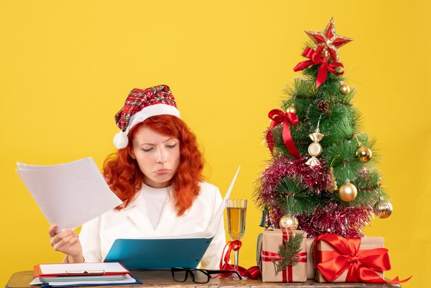
[[[306,157],[289,160],[279,156],[264,169],[257,182],[256,203],[260,207],[271,207],[271,220],[278,227],[280,218],[286,211],[275,208],[280,200],[276,187],[284,177],[300,178],[311,193],[319,194],[332,183],[328,170],[322,165],[310,167],[305,164]],[[370,222],[372,207],[344,207],[337,203],[322,203],[311,214],[296,215],[299,227],[307,233],[308,238],[315,238],[324,233],[335,233],[341,236],[361,237],[361,230]]]

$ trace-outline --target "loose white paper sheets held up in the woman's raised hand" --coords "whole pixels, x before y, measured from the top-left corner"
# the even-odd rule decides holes
[[[45,218],[75,229],[122,203],[109,189],[93,158],[59,165],[17,163],[17,173]]]

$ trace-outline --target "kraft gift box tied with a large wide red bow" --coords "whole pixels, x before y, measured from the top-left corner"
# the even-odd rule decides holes
[[[323,234],[315,239],[317,282],[385,282],[390,269],[388,249],[382,237],[344,238]]]

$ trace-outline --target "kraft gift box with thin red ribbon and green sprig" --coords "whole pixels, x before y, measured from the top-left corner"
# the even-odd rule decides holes
[[[286,241],[297,236],[298,252],[292,258],[283,258],[280,245],[286,247]],[[306,233],[299,230],[267,229],[262,234],[262,249],[257,260],[263,282],[305,282],[307,279]],[[259,247],[259,243],[258,247]],[[259,248],[258,248],[259,249]],[[259,251],[259,250],[257,250]],[[282,255],[280,255],[280,253]],[[294,259],[294,263],[291,263]]]

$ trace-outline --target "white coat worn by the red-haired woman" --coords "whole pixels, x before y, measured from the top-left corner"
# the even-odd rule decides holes
[[[169,196],[163,205],[156,228],[151,225],[145,212],[145,205],[143,205],[141,191],[148,189],[145,184],[136,198],[124,209],[120,211],[112,209],[85,223],[79,234],[85,262],[103,261],[117,238],[175,236],[204,232],[220,207],[222,196],[218,187],[214,185],[203,182],[199,185],[198,197],[190,209],[179,217],[175,207],[173,189],[169,189]],[[219,269],[225,244],[224,221],[221,220],[218,230],[202,258],[201,265],[204,269]]]

